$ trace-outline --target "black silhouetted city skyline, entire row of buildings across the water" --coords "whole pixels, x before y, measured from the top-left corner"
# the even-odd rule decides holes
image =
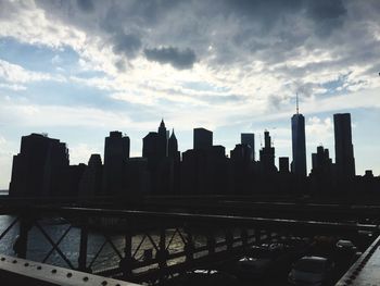
[[[296,113],[295,115],[301,115]],[[302,123],[303,123],[303,117]],[[157,132],[143,137],[142,157],[130,158],[130,138],[122,132],[110,132],[101,154],[91,154],[88,165],[69,164],[66,144],[47,134],[23,136],[21,151],[13,158],[9,194],[12,197],[81,197],[97,196],[138,198],[144,195],[254,195],[304,194],[314,198],[330,196],[366,196],[376,189],[372,170],[355,175],[354,146],[350,113],[335,113],[335,162],[322,146],[312,153],[313,169],[306,175],[303,124],[292,116],[293,151],[276,156],[268,130],[259,159],[253,160],[253,134],[241,134],[242,141],[233,150],[213,144],[213,132],[193,128],[193,148],[178,151],[178,140],[166,129],[162,119]],[[249,135],[249,136],[248,136]],[[295,135],[295,136],[294,136]],[[246,138],[248,137],[248,138]],[[279,167],[275,160],[278,157]],[[296,169],[299,166],[299,169]],[[334,195],[335,194],[335,195]],[[351,196],[350,195],[350,196]]]

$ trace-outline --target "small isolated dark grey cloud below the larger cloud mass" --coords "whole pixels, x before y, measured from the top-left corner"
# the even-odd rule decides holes
[[[191,69],[197,61],[195,52],[191,49],[179,50],[174,47],[144,49],[148,60],[159,63],[169,63],[178,70]]]

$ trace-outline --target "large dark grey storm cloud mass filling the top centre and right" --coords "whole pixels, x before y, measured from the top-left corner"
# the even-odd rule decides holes
[[[47,10],[47,16],[103,39],[100,45],[111,47],[121,57],[121,62],[116,62],[119,70],[131,66],[128,61],[142,54],[176,69],[191,69],[195,61],[201,61],[223,71],[230,65],[262,61],[267,67],[264,72],[300,77],[314,69],[324,71],[331,66],[338,71],[353,64],[375,64],[379,59],[378,40],[368,26],[379,23],[380,1],[38,0],[37,3]],[[300,57],[300,52],[306,58],[316,50],[327,51],[332,58],[274,67]]]

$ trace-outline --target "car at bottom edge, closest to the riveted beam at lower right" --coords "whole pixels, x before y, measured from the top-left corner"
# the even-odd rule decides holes
[[[293,264],[288,281],[293,285],[328,285],[334,263],[324,257],[303,257]]]

